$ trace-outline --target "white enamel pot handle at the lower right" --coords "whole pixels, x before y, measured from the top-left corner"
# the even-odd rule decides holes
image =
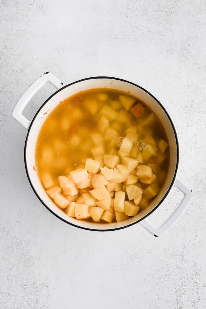
[[[180,191],[184,193],[184,197],[178,207],[174,210],[174,212],[171,214],[171,216],[162,223],[161,226],[156,227],[151,222],[149,222],[148,218],[141,221],[140,224],[152,235],[154,236],[160,236],[162,233],[164,233],[171,225],[174,224],[174,222],[180,217],[181,214],[186,210],[187,205],[189,204],[191,197],[192,197],[192,191],[183,184],[182,181],[180,181],[178,178],[174,181],[174,187],[178,188]]]

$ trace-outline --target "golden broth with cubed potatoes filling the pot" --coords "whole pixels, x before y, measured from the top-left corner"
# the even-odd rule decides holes
[[[111,223],[148,207],[166,180],[170,151],[146,102],[119,90],[90,89],[49,113],[35,159],[48,196],[68,216]]]

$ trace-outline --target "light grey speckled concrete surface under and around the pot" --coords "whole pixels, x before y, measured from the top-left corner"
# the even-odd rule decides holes
[[[0,308],[205,308],[205,2],[0,4]],[[139,225],[83,231],[40,204],[24,169],[27,132],[11,112],[46,71],[63,83],[128,79],[165,106],[179,137],[178,177],[194,196],[164,235]],[[53,91],[45,86],[24,114],[32,118]],[[163,222],[180,199],[173,189],[153,222]]]

